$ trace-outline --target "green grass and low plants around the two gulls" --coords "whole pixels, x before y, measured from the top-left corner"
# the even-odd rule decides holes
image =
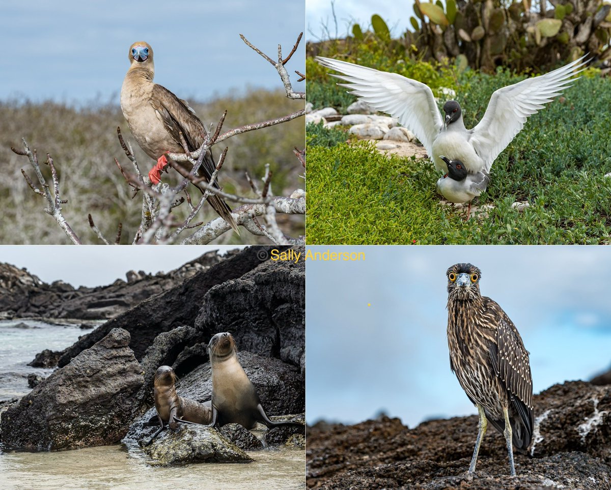
[[[467,128],[494,90],[522,78],[506,71],[459,76],[456,98]],[[467,222],[436,195],[439,175],[428,159],[387,158],[370,143],[349,145],[346,134],[309,125],[307,243],[609,243],[611,81],[587,76],[564,96],[531,116],[499,155],[488,190],[474,201],[495,208]],[[320,106],[310,92],[309,100]],[[518,213],[515,200],[530,207]]]

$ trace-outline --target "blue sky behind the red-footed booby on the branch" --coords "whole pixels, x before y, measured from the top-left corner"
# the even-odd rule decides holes
[[[274,58],[304,31],[303,1],[2,2],[0,100],[29,98],[119,103],[128,48],[155,50],[155,81],[191,100],[247,86],[282,88],[276,70],[240,39]],[[287,64],[304,70],[304,42]],[[303,90],[304,84],[293,88]]]

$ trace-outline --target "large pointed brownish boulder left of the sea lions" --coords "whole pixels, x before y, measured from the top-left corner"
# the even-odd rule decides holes
[[[56,450],[120,441],[144,382],[129,343],[129,332],[113,329],[38,384],[2,416],[4,445]]]

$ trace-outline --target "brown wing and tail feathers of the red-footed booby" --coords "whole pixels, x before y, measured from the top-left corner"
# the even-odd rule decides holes
[[[207,131],[202,121],[185,101],[176,97],[176,95],[167,90],[166,87],[155,84],[151,93],[151,104],[153,108],[155,108],[157,117],[163,122],[167,133],[175,142],[181,145],[180,133],[183,133],[183,137],[185,138],[190,152],[194,152],[202,145],[204,135],[207,134]],[[186,164],[186,167],[189,166],[189,164]],[[204,155],[202,165],[199,167],[199,174],[202,175],[202,177],[206,177],[208,182],[210,182],[214,169],[216,169],[216,163],[214,163],[212,153],[208,150]],[[216,189],[220,189],[216,180],[213,186]],[[197,186],[197,188],[202,194],[205,192],[200,186]],[[231,208],[229,205],[216,194],[208,196],[208,203],[210,203],[219,216],[227,221],[233,230],[240,235],[238,225],[231,215]]]

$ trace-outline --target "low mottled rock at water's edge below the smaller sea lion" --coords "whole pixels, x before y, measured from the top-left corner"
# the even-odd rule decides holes
[[[249,463],[252,458],[217,430],[203,425],[181,424],[176,432],[164,430],[144,447],[161,464]]]

